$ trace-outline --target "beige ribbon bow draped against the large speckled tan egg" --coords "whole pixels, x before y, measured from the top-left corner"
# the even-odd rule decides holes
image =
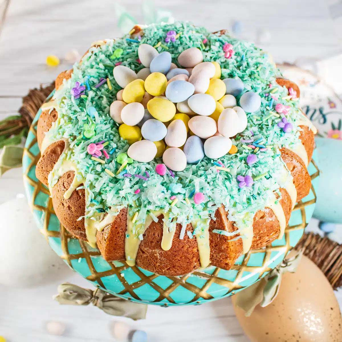
[[[281,264],[275,267],[260,281],[238,292],[236,294],[235,305],[244,310],[245,316],[249,317],[258,304],[262,307],[271,304],[279,292],[282,274],[286,272],[294,273],[302,255],[303,252],[300,251],[294,257],[284,259]]]

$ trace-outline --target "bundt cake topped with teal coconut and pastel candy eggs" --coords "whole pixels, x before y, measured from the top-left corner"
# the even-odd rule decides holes
[[[42,106],[37,178],[107,261],[176,276],[284,235],[315,128],[272,58],[226,31],[135,26],[94,42]]]

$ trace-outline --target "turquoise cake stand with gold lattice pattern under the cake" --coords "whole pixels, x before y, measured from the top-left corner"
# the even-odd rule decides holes
[[[40,157],[36,126],[40,113],[41,109],[30,127],[23,156],[26,196],[37,226],[51,248],[74,271],[94,286],[118,297],[160,306],[202,304],[228,297],[252,285],[277,266],[297,244],[314,211],[319,176],[315,153],[308,167],[312,179],[310,194],[294,207],[284,237],[265,248],[241,255],[231,270],[209,266],[183,276],[167,277],[140,267],[130,267],[125,262],[107,262],[98,249],[75,238],[60,224],[48,188],[36,178],[35,169]]]

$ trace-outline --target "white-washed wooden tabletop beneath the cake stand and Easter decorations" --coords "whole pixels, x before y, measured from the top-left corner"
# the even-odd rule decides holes
[[[6,0],[0,0],[0,11]],[[141,1],[118,1],[138,22],[144,23]],[[320,59],[342,50],[337,19],[329,5],[337,0],[173,0],[155,1],[176,19],[189,20],[215,31],[240,21],[238,37],[258,42],[278,63],[299,58]],[[112,0],[11,0],[0,34],[0,119],[15,114],[28,89],[50,83],[70,67],[63,61],[67,52],[80,54],[90,43],[120,35]],[[336,13],[336,11],[335,11]],[[0,12],[1,18],[1,12]],[[263,35],[261,35],[261,33]],[[263,37],[262,37],[263,36]],[[267,37],[266,37],[267,38]],[[49,54],[62,58],[56,68],[45,64]],[[24,193],[21,169],[0,179],[0,203]],[[313,222],[316,229],[317,223]],[[76,274],[65,281],[91,287]],[[59,306],[52,300],[58,283],[36,289],[0,286],[0,335],[9,342],[101,341],[115,339],[110,324],[116,319],[89,306]],[[338,294],[340,305],[342,295]],[[47,334],[47,321],[61,321],[63,337]],[[248,341],[235,318],[229,298],[200,306],[160,308],[150,305],[146,320],[132,322],[132,328],[148,333],[149,342]]]

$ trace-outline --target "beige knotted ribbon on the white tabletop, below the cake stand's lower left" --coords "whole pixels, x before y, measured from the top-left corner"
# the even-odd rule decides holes
[[[146,304],[137,304],[115,297],[99,288],[92,291],[66,282],[59,285],[57,291],[58,294],[53,299],[60,304],[89,305],[92,303],[108,315],[129,317],[134,320],[146,317]]]

